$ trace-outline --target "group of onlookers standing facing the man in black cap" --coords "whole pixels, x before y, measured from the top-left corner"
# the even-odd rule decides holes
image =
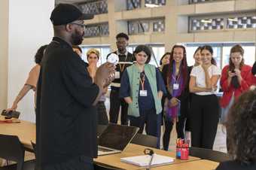
[[[164,125],[163,150],[169,149],[174,123],[177,138],[186,138],[185,132],[188,131],[191,132],[192,146],[212,149],[220,115],[221,123],[226,123],[233,102],[255,83],[253,70],[245,65],[244,50],[238,44],[231,48],[229,65],[224,66],[221,72],[213,58],[212,47],[208,45],[195,50],[194,65],[191,66],[187,66],[185,47],[175,45],[171,52],[162,56],[160,67],[156,68],[148,64],[151,61],[149,47],[139,45],[132,54],[126,50],[128,35],[120,33],[116,40],[117,50],[114,53],[119,57],[119,62],[110,85],[109,121],[105,108],[108,87],[105,87],[96,104],[98,124],[117,123],[120,112],[122,125],[128,125],[130,121],[130,126],[139,127],[140,133],[145,128],[148,135],[158,138],[157,147],[160,147],[161,126]],[[35,62],[38,63],[35,68],[40,68],[46,47],[41,47],[35,55]],[[80,47],[72,48],[81,56]],[[90,49],[86,56],[87,71],[93,80],[100,59],[99,50]],[[31,79],[38,79],[38,74],[34,74],[35,68],[9,110],[17,109],[17,102],[28,90],[35,90],[36,83],[29,83]],[[215,95],[218,80],[224,92],[220,101]]]

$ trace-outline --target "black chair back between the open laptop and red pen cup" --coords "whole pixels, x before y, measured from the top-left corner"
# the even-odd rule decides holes
[[[145,147],[154,147],[157,148],[157,137],[152,135],[144,135],[137,133],[131,141],[133,144],[139,144]]]

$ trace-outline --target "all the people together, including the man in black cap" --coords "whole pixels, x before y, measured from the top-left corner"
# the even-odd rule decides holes
[[[139,45],[133,54],[129,53],[129,37],[120,33],[114,52],[119,57],[117,65],[106,62],[97,67],[99,51],[87,51],[87,64],[78,47],[84,37],[84,20],[92,18],[74,5],[59,4],[54,8],[50,15],[53,40],[36,53],[35,67],[8,109],[16,110],[23,96],[29,90],[35,91],[36,169],[93,170],[93,158],[97,156],[96,120],[98,124],[108,123],[104,102],[109,85],[110,123],[117,123],[121,107],[121,124],[128,125],[130,120],[130,126],[139,127],[140,133],[145,127],[148,135],[158,138],[158,147],[164,123],[164,150],[168,150],[174,123],[178,138],[185,138],[186,129],[191,131],[192,146],[212,149],[220,114],[215,96],[220,78],[224,91],[221,120],[227,128],[237,128],[228,134],[233,153],[241,162],[255,162],[255,90],[237,102],[247,108],[233,106],[231,114],[227,114],[230,105],[256,83],[256,64],[252,69],[244,64],[241,46],[232,47],[230,63],[222,73],[212,57],[212,47],[207,45],[195,51],[193,66],[187,66],[185,47],[175,45],[162,57],[160,68],[156,68],[149,64],[148,46]],[[239,126],[242,120],[248,120],[242,126],[246,131]],[[239,143],[245,141],[243,138],[248,139],[248,144]]]

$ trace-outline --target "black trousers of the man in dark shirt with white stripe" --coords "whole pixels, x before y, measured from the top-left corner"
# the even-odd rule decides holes
[[[110,123],[117,123],[120,107],[121,107],[121,125],[128,125],[128,120],[127,120],[128,104],[124,101],[124,99],[119,98],[119,90],[111,89],[110,108],[109,108]]]

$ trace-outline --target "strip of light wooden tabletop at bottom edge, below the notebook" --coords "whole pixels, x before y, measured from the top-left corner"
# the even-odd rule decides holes
[[[184,162],[179,164],[165,165],[157,168],[151,168],[152,170],[213,170],[217,168],[218,162],[200,159],[190,162]]]

